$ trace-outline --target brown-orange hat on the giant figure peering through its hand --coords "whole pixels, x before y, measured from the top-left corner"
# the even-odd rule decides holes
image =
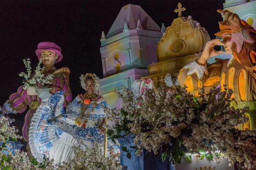
[[[232,32],[241,31],[242,24],[238,14],[234,14],[228,10],[223,11],[222,9],[218,9],[217,11],[224,16],[224,21],[219,22],[221,26],[226,26],[227,28],[230,28]]]

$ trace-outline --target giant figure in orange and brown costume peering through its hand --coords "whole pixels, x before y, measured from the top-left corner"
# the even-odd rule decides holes
[[[209,90],[220,85],[221,91],[233,90],[235,99],[231,104],[235,108],[249,107],[249,121],[240,128],[256,129],[256,31],[237,14],[227,10],[218,10],[224,16],[219,22],[220,30],[215,35],[221,37],[207,42],[199,59],[185,65],[179,73],[181,87],[198,96],[200,88]],[[215,51],[215,45],[224,45],[226,53],[231,53],[230,59],[215,59],[216,62],[207,64],[209,57],[223,51]]]

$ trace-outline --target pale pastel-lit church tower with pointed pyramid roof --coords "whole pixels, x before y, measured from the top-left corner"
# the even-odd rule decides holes
[[[115,90],[131,90],[136,79],[148,75],[148,65],[157,61],[157,43],[163,30],[137,5],[122,7],[108,34],[102,31],[100,53],[104,78],[98,91],[111,108],[120,106]]]

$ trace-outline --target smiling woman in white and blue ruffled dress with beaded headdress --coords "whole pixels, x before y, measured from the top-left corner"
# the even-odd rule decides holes
[[[59,115],[51,119],[52,125],[69,133],[85,147],[94,147],[97,142],[105,147],[105,155],[107,147],[113,147],[114,153],[119,153],[119,146],[114,144],[111,139],[106,139],[107,136],[105,136],[103,125],[106,123],[106,115],[104,110],[109,106],[102,96],[94,93],[100,86],[99,77],[95,74],[86,74],[85,76],[82,74],[80,79],[81,86],[86,92],[79,94],[67,106],[67,114],[65,114],[67,116]]]

